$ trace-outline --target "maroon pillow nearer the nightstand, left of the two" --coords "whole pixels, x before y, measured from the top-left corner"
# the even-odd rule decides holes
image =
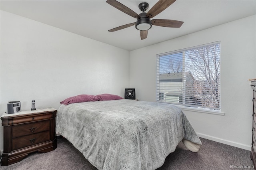
[[[69,97],[64,101],[61,101],[60,104],[69,105],[71,103],[81,103],[86,101],[99,101],[100,97],[94,95],[77,95],[73,97]]]

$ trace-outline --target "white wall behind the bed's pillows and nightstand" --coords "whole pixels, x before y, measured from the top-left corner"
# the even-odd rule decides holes
[[[22,110],[54,107],[79,94],[124,97],[129,51],[1,11],[0,115],[8,101]],[[0,126],[0,149],[3,128]]]

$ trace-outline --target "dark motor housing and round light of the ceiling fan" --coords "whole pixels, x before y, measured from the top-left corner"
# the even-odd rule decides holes
[[[142,12],[139,14],[140,18],[136,21],[136,29],[140,31],[149,30],[152,27],[152,22],[150,18],[147,17],[146,12]]]

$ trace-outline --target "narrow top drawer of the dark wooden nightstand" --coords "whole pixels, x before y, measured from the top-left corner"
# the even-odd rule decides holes
[[[22,116],[22,117],[15,117],[12,119],[12,125],[18,124],[18,123],[27,123],[32,121],[40,121],[44,119],[51,119],[53,117],[52,114],[46,114],[46,115],[30,115],[30,116]]]

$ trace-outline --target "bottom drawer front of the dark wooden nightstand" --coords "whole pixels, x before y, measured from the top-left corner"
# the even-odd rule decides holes
[[[30,134],[12,139],[12,150],[17,150],[50,140],[50,131]]]

